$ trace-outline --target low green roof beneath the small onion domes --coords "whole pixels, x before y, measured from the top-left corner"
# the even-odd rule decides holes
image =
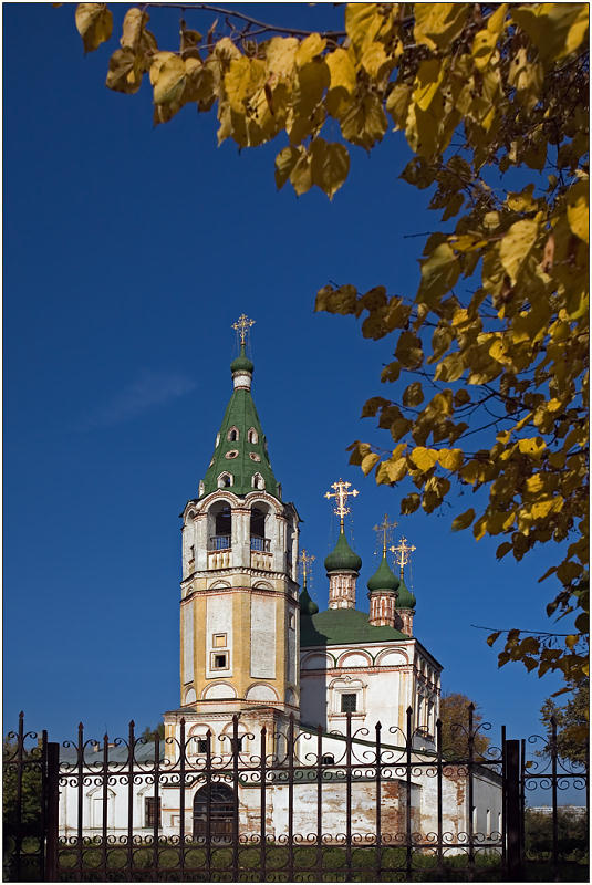
[[[367,612],[356,608],[328,608],[308,616],[300,614],[300,647],[310,645],[347,645],[384,643],[409,637],[394,627],[374,627]]]

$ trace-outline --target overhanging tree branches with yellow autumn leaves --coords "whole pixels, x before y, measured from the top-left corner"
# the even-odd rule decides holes
[[[417,491],[403,499],[404,513],[433,512],[454,490],[478,492],[453,529],[471,528],[477,540],[502,535],[498,559],[559,542],[542,575],[560,583],[548,614],[573,614],[573,632],[557,655],[506,633],[500,663],[581,679],[588,6],[353,3],[343,31],[326,33],[218,14],[225,23],[216,20],[205,38],[181,20],[178,48],[164,51],[146,7],[129,9],[107,86],[135,93],[148,75],[157,124],[186,104],[216,107],[219,143],[253,147],[281,136],[276,181],[298,195],[316,186],[332,198],[352,146],[406,139],[414,157],[402,177],[430,188],[430,208],[442,212],[415,299],[351,284],[326,285],[316,299],[316,310],[363,316],[364,336],[393,341],[382,381],[402,386],[395,402],[374,396],[363,410],[392,445],[381,451],[357,441],[352,461],[378,483],[411,480]],[[106,4],[80,4],[76,24],[87,51],[111,38]]]

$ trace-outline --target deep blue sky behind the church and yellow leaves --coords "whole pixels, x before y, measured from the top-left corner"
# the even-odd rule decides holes
[[[340,15],[331,4],[241,9],[311,29]],[[163,44],[176,15],[152,13]],[[186,18],[207,29],[207,15]],[[471,625],[548,628],[555,589],[537,580],[557,551],[497,562],[494,541],[450,532],[450,510],[396,517],[404,491],[347,465],[356,438],[388,448],[360,413],[404,384],[380,384],[393,344],[314,314],[314,294],[329,280],[415,293],[423,240],[406,237],[438,216],[398,178],[411,156],[401,134],[371,156],[352,149],[333,202],[298,199],[276,190],[283,142],[239,155],[216,146],[211,114],[187,107],[154,129],[147,83],[136,96],[106,90],[110,51],[83,56],[74,7],[4,3],[3,33],[4,731],[24,709],[50,739],[81,719],[115,735],[178,705],[178,514],[211,457],[242,312],[256,320],[253,395],[316,556],[321,607],[336,532],[323,493],[342,476],[360,490],[360,607],[377,565],[372,527],[388,512],[417,546],[416,635],[444,665],[444,689],[474,698],[496,737],[501,723],[509,737],[540,731],[559,679],[498,670]]]

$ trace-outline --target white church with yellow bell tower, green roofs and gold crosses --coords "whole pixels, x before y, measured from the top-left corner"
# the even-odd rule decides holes
[[[345,517],[357,492],[341,479],[325,494],[340,519],[337,541],[324,560],[328,610],[320,612],[308,592],[312,558],[300,550],[298,509],[283,498],[251,393],[253,363],[246,351],[251,324],[245,315],[235,324],[240,352],[230,364],[230,399],[198,493],[181,513],[180,698],[178,707],[164,714],[163,766],[175,768],[183,745],[197,769],[206,759],[228,767],[237,745],[241,758],[257,757],[264,729],[268,752],[276,759],[290,746],[297,769],[310,766],[307,760],[312,758],[319,766],[335,768],[335,782],[323,795],[323,833],[337,833],[344,827],[345,784],[339,782],[344,746],[349,763],[363,766],[381,722],[382,746],[393,760],[384,783],[388,802],[382,826],[402,831],[402,815],[411,805],[414,830],[435,831],[439,802],[449,832],[472,827],[495,839],[501,830],[501,789],[495,772],[475,769],[471,803],[466,771],[455,769],[443,779],[439,799],[435,778],[428,777],[436,750],[442,665],[414,634],[416,600],[405,584],[404,569],[415,548],[405,538],[391,548],[399,572],[395,574],[387,561],[392,527],[386,517],[375,527],[382,534],[382,561],[366,581],[370,612],[356,607],[364,592],[357,585],[362,560],[347,540]],[[396,759],[409,730],[417,768],[405,782]],[[115,749],[113,753],[115,759]],[[139,779],[134,833],[149,834],[155,813],[164,836],[175,835],[179,827],[194,837],[210,832],[205,816],[215,796],[211,793],[207,802],[200,799],[204,789],[194,779],[179,802],[175,778],[163,779],[157,798],[150,780]],[[292,790],[288,800],[281,779],[270,781],[263,810],[268,837],[314,830],[318,782],[304,778],[294,781]],[[231,791],[224,783],[218,787],[218,800],[224,805],[225,791],[230,809]],[[104,793],[101,796],[110,804],[110,832],[124,832],[128,791],[113,779],[107,799]],[[360,778],[350,813],[361,837],[375,832],[375,804],[374,781]],[[80,794],[76,800],[74,788],[70,790],[64,781],[63,834],[73,832],[80,806]],[[240,781],[238,806],[241,835],[257,834],[262,814],[257,780]],[[100,823],[105,825],[106,812],[94,808],[97,811],[94,815],[89,811],[87,822],[85,815],[84,832],[90,835],[93,826],[96,832]]]

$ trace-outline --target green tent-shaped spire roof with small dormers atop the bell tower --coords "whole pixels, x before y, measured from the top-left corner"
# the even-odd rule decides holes
[[[232,362],[230,369],[252,373],[253,365],[245,353],[245,345],[240,355]],[[249,438],[249,430],[255,430]],[[231,433],[236,430],[237,433]],[[237,437],[236,439],[232,437]],[[257,439],[257,441],[250,441]],[[218,488],[220,473],[232,476],[231,489],[235,494],[248,494],[253,488],[253,476],[260,473],[264,480],[264,489],[270,494],[279,498],[279,488],[271,464],[267,454],[267,440],[261,429],[261,421],[255,407],[250,389],[246,386],[235,388],[226,408],[220,426],[218,444],[214,451],[210,466],[204,477],[204,490],[200,498]]]

